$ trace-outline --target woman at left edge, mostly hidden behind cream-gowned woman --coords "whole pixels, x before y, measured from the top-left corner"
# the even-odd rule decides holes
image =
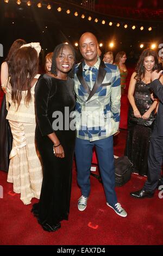
[[[5,61],[1,65],[1,84],[2,88],[7,83],[10,76],[12,57],[14,53],[22,46],[26,44],[26,41],[17,39],[13,42],[10,47],[9,53]],[[5,92],[5,90],[4,90]],[[12,148],[12,135],[10,125],[7,116],[6,98],[3,96],[0,112],[0,170],[8,172],[9,169],[9,154]]]

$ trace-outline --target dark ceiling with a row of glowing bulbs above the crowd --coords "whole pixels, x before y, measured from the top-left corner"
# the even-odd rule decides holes
[[[98,40],[103,42],[103,53],[109,50],[109,41],[115,42],[115,53],[120,50],[139,53],[140,42],[143,42],[145,47],[148,47],[150,42],[163,42],[162,0],[87,0],[92,1],[91,8],[87,6],[88,9],[85,8],[83,0],[42,0],[42,8],[37,8],[39,0],[31,1],[30,7],[27,6],[27,1],[22,0],[18,5],[16,0],[9,0],[9,3],[0,0],[0,43],[4,46],[4,56],[17,38],[28,42],[40,41],[46,53],[53,51],[60,42],[68,41],[74,44],[86,31],[94,33]],[[48,3],[52,4],[51,10],[47,9]],[[58,7],[62,8],[60,12]],[[67,9],[71,10],[70,14],[66,14]],[[75,11],[78,11],[77,17],[74,16]],[[85,19],[81,18],[82,14]],[[91,21],[87,20],[89,16],[92,17]],[[105,25],[102,25],[102,20],[105,20]],[[110,21],[112,26],[109,26]],[[120,27],[116,26],[117,22]],[[125,23],[128,24],[127,29],[124,28]],[[131,29],[133,25],[136,26],[134,31]],[[141,26],[144,27],[143,31],[140,31]],[[148,27],[152,27],[151,32]],[[80,58],[78,49],[77,56]],[[2,61],[2,58],[0,60]]]

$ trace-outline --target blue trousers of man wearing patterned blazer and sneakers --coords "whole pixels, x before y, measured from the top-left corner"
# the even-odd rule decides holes
[[[117,203],[115,193],[115,167],[112,136],[90,142],[86,139],[76,139],[77,180],[84,197],[90,194],[90,169],[92,149],[96,147],[99,169],[103,181],[106,201],[110,205]]]

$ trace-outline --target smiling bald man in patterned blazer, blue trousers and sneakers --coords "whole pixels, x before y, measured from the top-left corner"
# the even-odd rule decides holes
[[[77,179],[82,191],[78,200],[79,211],[84,211],[90,194],[92,149],[95,146],[103,181],[106,204],[116,214],[126,217],[127,212],[117,203],[113,135],[120,121],[120,71],[116,65],[104,64],[98,57],[98,42],[90,32],[79,40],[83,62],[76,65],[74,90],[76,103],[76,163]]]

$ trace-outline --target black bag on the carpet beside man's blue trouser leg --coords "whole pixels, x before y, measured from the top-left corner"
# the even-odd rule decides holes
[[[131,178],[133,163],[127,156],[120,156],[114,159],[115,163],[115,186],[121,187]]]

